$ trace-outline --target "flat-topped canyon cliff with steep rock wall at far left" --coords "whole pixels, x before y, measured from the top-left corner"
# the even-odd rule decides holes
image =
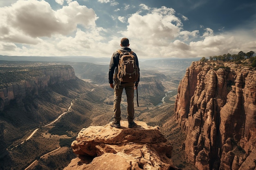
[[[16,102],[19,103],[19,101],[28,95],[38,95],[39,91],[44,90],[49,85],[76,78],[74,69],[67,65],[55,65],[16,72],[16,77],[19,77],[22,74],[29,76],[27,76],[25,80],[20,80],[18,82],[11,80],[10,83],[1,84],[0,111],[11,104],[11,101],[16,100]]]

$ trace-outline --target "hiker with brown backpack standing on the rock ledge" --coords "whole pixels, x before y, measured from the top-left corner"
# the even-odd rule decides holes
[[[126,91],[127,97],[127,120],[128,128],[135,126],[134,119],[134,90],[137,89],[139,83],[139,62],[137,55],[129,48],[128,38],[121,39],[121,49],[112,54],[108,82],[110,87],[114,88],[114,121],[110,122],[110,126],[120,128],[121,120],[121,97],[123,90]],[[114,75],[115,72],[115,75]],[[114,80],[114,81],[113,81]],[[114,83],[114,84],[113,84]]]

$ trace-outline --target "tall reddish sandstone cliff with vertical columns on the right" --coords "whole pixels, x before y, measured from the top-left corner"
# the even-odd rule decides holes
[[[199,170],[256,168],[256,71],[193,62],[175,103],[186,160]],[[218,66],[218,64],[216,65]]]

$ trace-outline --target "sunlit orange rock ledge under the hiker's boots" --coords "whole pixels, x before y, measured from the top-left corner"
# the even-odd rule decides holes
[[[175,170],[171,161],[172,146],[159,127],[136,121],[134,128],[110,124],[83,128],[72,143],[79,155],[64,170]]]

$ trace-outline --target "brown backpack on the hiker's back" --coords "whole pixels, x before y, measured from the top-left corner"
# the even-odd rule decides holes
[[[139,68],[136,65],[135,56],[132,51],[120,51],[117,79],[119,82],[136,82],[139,78]]]

